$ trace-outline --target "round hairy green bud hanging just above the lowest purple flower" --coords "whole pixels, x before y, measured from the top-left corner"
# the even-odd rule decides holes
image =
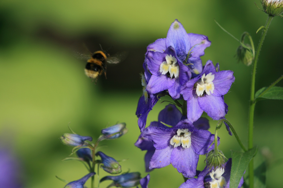
[[[208,154],[206,154],[206,165],[209,169],[214,167],[217,168],[223,168],[225,166],[225,159],[227,159],[222,151],[217,150],[217,152],[214,152],[214,149],[211,150]]]

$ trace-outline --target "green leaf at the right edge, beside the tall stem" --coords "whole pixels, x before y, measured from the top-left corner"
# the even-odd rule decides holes
[[[262,99],[283,99],[283,87],[273,86],[264,92],[266,89],[267,87],[263,87],[256,92],[255,98],[257,101]],[[264,94],[262,95],[263,92]]]

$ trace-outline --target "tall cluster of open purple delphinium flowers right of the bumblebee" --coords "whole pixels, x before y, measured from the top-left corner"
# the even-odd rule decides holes
[[[202,65],[200,57],[210,44],[207,36],[187,33],[175,20],[166,38],[157,39],[147,46],[142,74],[143,94],[136,110],[142,133],[135,144],[147,150],[147,172],[172,164],[184,177],[196,181],[193,178],[197,175],[199,155],[214,148],[214,134],[208,131],[208,119],[201,118],[201,115],[204,111],[213,120],[225,118],[228,105],[224,102],[224,95],[235,77],[233,71],[220,71],[219,64],[214,66],[211,60]],[[151,122],[146,128],[148,113],[165,95],[170,96],[182,112],[169,104],[159,113],[158,122]],[[183,102],[179,102],[181,100]],[[207,174],[214,173],[208,169],[204,171],[199,174],[200,181]],[[230,173],[230,170],[226,171]],[[222,172],[218,170],[217,173],[219,176]],[[216,182],[216,179],[211,182]],[[221,187],[218,185],[215,187]]]

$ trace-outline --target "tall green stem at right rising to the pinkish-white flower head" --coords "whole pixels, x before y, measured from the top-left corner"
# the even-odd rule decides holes
[[[265,35],[267,33],[267,30],[269,28],[269,25],[271,23],[273,16],[268,16],[267,18],[267,22],[265,25],[265,29],[263,31],[263,34],[261,36],[261,39],[259,41],[258,44],[258,49],[255,55],[255,59],[253,61],[253,66],[252,66],[252,84],[251,84],[251,96],[250,96],[250,108],[249,108],[249,131],[248,131],[248,149],[252,149],[253,147],[253,117],[254,117],[254,108],[255,108],[255,102],[254,102],[254,91],[255,91],[255,74],[256,74],[256,67],[257,67],[257,62],[258,62],[258,56],[259,56],[259,52],[261,50],[261,46],[263,44]],[[253,188],[253,176],[254,176],[254,172],[253,172],[253,159],[251,160],[251,162],[249,163],[249,187]]]

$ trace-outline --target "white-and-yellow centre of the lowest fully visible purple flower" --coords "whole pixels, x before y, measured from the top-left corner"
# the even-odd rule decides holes
[[[191,146],[191,132],[186,129],[178,129],[177,134],[175,134],[171,140],[170,144],[176,148],[182,144],[183,148],[189,148]]]

